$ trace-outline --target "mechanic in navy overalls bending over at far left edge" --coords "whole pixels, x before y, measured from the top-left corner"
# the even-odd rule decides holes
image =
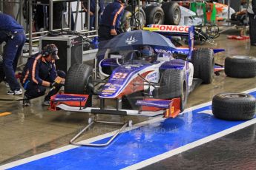
[[[7,95],[22,95],[22,89],[15,72],[26,41],[24,29],[13,17],[0,13],[0,44],[6,42],[3,53],[5,81],[10,86]]]

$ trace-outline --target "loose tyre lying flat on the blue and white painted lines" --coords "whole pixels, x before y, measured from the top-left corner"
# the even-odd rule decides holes
[[[249,120],[254,118],[256,99],[245,93],[220,93],[212,99],[212,113],[224,120]]]

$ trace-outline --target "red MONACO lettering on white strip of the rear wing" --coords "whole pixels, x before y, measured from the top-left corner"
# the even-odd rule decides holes
[[[188,33],[188,28],[189,28],[189,26],[156,25],[156,24],[152,24],[151,27],[158,28],[157,31],[172,32],[172,33]]]

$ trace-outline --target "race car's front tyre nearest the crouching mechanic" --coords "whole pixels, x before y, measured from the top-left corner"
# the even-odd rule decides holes
[[[91,106],[93,68],[86,64],[73,64],[65,79],[65,93],[89,95],[86,106]]]

